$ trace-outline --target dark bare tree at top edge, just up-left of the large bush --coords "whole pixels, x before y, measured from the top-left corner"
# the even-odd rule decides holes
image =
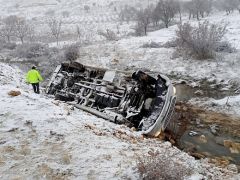
[[[159,15],[159,18],[165,24],[165,27],[168,28],[169,23],[173,20],[174,16],[178,12],[178,3],[175,0],[160,0],[155,9],[156,14]]]

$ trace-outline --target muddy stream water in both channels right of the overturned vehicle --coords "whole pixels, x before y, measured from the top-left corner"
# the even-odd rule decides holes
[[[234,90],[219,91],[210,87],[193,88],[187,84],[177,84],[175,87],[178,102],[184,103],[187,103],[192,98],[221,99],[234,94]],[[231,116],[224,116],[210,111],[205,112],[203,109],[199,111],[191,108],[186,111],[183,109],[175,113],[178,115],[174,117],[177,119],[174,122],[177,146],[186,152],[190,152],[190,154],[194,152],[202,155],[202,157],[225,159],[229,163],[236,164],[240,170],[240,150],[232,152],[224,144],[225,141],[240,144],[238,133],[240,132],[240,118],[239,121],[236,121],[231,120]],[[237,125],[233,125],[233,123],[237,123]],[[210,128],[212,125],[217,126],[215,134]],[[233,128],[236,128],[236,130],[234,131]],[[239,131],[237,128],[239,128]]]

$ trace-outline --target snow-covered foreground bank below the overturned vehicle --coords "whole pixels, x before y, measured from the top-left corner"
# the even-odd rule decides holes
[[[192,179],[239,179],[234,165],[197,161],[169,142],[145,139],[125,126],[32,93],[24,75],[0,63],[1,179],[139,179],[136,157],[150,149],[191,169]],[[11,97],[8,92],[21,95]],[[169,170],[171,171],[171,170]]]

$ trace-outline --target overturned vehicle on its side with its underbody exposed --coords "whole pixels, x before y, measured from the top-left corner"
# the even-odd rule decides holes
[[[46,93],[75,107],[143,134],[158,136],[167,127],[176,102],[168,77],[65,62],[57,66]]]

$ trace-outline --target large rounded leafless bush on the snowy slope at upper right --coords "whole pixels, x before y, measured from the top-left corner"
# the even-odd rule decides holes
[[[204,21],[193,27],[185,23],[178,26],[176,42],[186,54],[198,59],[209,59],[214,58],[215,49],[225,34],[226,25]]]

